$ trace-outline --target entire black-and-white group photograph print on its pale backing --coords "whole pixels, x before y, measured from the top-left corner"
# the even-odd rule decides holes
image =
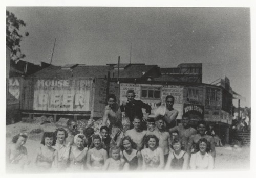
[[[252,168],[249,6],[5,10],[6,174]]]

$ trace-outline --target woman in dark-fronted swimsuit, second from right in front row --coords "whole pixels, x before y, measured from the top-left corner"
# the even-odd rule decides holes
[[[175,138],[173,140],[174,151],[170,151],[169,153],[165,170],[187,169],[189,163],[189,155],[187,154],[187,152],[181,150],[181,148],[181,140],[179,138]]]

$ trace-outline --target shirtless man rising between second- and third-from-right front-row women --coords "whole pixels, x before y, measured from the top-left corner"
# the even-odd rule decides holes
[[[171,148],[170,134],[164,128],[164,116],[158,115],[155,118],[156,128],[153,132],[147,132],[147,135],[154,134],[159,139],[159,147],[164,153],[164,162],[167,162]]]

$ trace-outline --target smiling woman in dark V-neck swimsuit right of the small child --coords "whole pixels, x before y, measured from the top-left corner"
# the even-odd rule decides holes
[[[140,170],[142,166],[142,155],[136,148],[136,144],[131,137],[125,136],[122,140],[123,159],[129,164],[129,170]]]

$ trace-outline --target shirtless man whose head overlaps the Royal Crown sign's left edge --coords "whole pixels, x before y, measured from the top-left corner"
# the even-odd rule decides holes
[[[181,123],[182,125],[175,126],[172,129],[169,129],[170,134],[177,131],[179,134],[179,137],[181,139],[181,144],[184,147],[184,151],[187,151],[188,149],[188,139],[191,135],[197,134],[197,130],[194,128],[191,128],[188,124],[190,121],[190,117],[188,114],[183,114]]]

